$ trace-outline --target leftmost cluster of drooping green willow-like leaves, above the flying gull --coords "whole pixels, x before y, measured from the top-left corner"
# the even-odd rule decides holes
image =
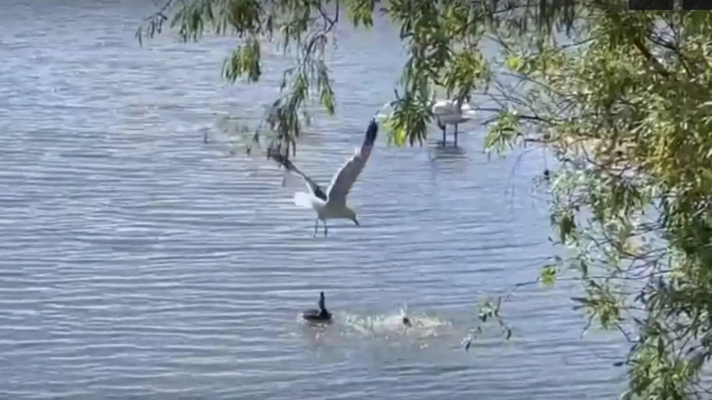
[[[330,4],[335,10],[327,11]],[[347,1],[355,22],[372,23],[371,1]],[[258,0],[169,0],[147,18],[136,33],[142,43],[161,33],[164,23],[177,30],[181,41],[198,41],[206,31],[231,34],[239,43],[226,58],[222,75],[229,82],[244,78],[256,83],[262,74],[262,49],[277,39],[285,52],[293,53],[295,65],[285,71],[281,95],[269,108],[266,121],[271,142],[268,154],[285,157],[296,150],[296,142],[308,122],[307,107],[318,102],[328,114],[335,113],[325,52],[339,19],[339,1]]]

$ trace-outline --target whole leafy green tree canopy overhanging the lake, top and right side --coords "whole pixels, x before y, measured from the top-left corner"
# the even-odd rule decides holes
[[[567,256],[543,280],[580,280],[585,295],[573,300],[589,322],[629,341],[626,398],[709,398],[700,377],[712,354],[712,14],[629,11],[621,0],[184,0],[137,36],[167,21],[183,41],[234,34],[231,81],[259,80],[268,40],[292,49],[267,117],[268,154],[288,157],[306,102],[335,110],[325,61],[334,26],[368,28],[377,13],[408,49],[384,121],[389,142],[422,143],[441,91],[494,105],[488,150],[553,149],[551,216]],[[486,58],[484,43],[498,57]]]

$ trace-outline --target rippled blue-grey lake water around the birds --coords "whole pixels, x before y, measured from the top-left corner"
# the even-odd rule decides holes
[[[550,245],[541,152],[493,158],[377,146],[350,202],[313,215],[261,155],[230,154],[216,123],[255,123],[286,65],[228,85],[234,38],[140,48],[148,1],[4,1],[0,13],[0,395],[4,399],[611,399],[617,335],[589,332],[574,293],[521,288],[461,347],[476,304],[533,280]],[[392,100],[392,27],[340,32],[337,117],[295,162],[323,184]],[[203,135],[209,134],[209,143]],[[440,134],[436,127],[431,140]],[[451,137],[450,137],[451,140]],[[324,290],[335,323],[298,312]],[[424,325],[404,330],[407,303]]]

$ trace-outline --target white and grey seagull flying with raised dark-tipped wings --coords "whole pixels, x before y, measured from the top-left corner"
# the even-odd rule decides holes
[[[327,219],[344,218],[350,219],[356,226],[360,226],[356,219],[356,213],[346,205],[346,196],[349,194],[354,182],[365,167],[368,157],[371,155],[373,144],[376,140],[378,125],[372,119],[366,130],[366,135],[360,149],[356,149],[355,154],[339,169],[331,178],[331,184],[326,191],[310,177],[301,172],[288,159],[278,154],[274,158],[286,169],[295,172],[304,179],[308,192],[298,191],[294,194],[294,204],[305,209],[313,209],[317,218],[314,223],[314,237],[319,230],[319,220],[324,221],[324,236],[328,234],[326,225]]]

